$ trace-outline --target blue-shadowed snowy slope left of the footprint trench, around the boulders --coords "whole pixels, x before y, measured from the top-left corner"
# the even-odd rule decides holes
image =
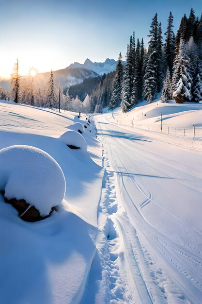
[[[54,211],[49,218],[39,222],[21,220],[16,209],[5,203],[0,194],[0,303],[75,304],[82,298],[95,253],[103,168],[98,165],[101,147],[92,136],[93,127],[87,125],[82,133],[87,151],[86,146],[85,149],[70,149],[61,137],[70,125],[74,125],[76,115],[0,101],[0,149],[12,145],[41,149],[59,164],[66,180],[66,192],[58,212]],[[79,123],[86,125],[85,117]],[[37,183],[43,183],[41,177],[46,172],[51,174],[51,168],[39,167],[42,172],[38,171],[37,179],[37,163],[34,165],[27,158],[23,163],[21,158],[21,163],[16,164],[19,157],[15,156],[15,151],[12,158],[9,170],[12,163],[15,164],[20,176],[25,174],[26,181],[26,168],[32,164],[36,193],[39,187],[43,188],[44,185]],[[1,161],[4,167],[1,165],[0,177],[7,174],[2,157]],[[49,193],[45,185],[47,200],[57,186],[56,181],[54,183],[56,175],[50,177],[53,181]],[[20,189],[17,191],[19,196]],[[30,196],[31,192],[28,200]]]

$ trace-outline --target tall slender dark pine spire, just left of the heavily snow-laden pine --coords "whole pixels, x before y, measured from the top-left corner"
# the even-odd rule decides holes
[[[165,45],[164,45],[164,51],[166,56],[165,65],[169,67],[170,73],[172,73],[174,49],[175,49],[175,35],[172,28],[173,28],[173,16],[172,13],[170,12],[168,18],[167,31],[164,34],[166,36]]]

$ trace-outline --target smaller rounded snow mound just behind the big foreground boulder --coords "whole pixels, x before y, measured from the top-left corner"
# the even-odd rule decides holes
[[[87,150],[87,143],[85,139],[76,131],[65,132],[62,134],[61,139],[70,149]]]

